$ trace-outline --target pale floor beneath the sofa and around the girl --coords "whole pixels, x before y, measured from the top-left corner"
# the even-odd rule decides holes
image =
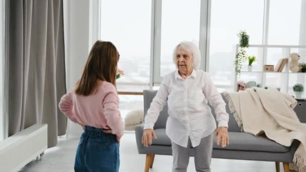
[[[74,155],[79,139],[61,138],[58,146],[48,149],[42,161],[33,160],[20,172],[53,172],[53,171],[74,171]],[[120,172],[144,171],[146,155],[139,155],[137,152],[135,135],[126,133],[120,144]],[[155,155],[154,164],[150,172],[172,171],[172,156]],[[194,159],[190,158],[188,172],[194,172]],[[213,172],[275,172],[275,162],[246,161],[212,159],[211,171]],[[280,172],[283,165],[280,163]]]

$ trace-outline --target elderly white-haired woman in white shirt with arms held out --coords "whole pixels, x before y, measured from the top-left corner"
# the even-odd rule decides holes
[[[208,73],[199,70],[200,51],[191,42],[181,42],[174,49],[173,61],[177,70],[164,77],[144,119],[142,144],[148,146],[156,138],[154,124],[166,103],[169,118],[166,133],[171,139],[173,170],[186,171],[189,151],[194,149],[196,171],[210,171],[213,132],[216,123],[207,105],[213,106],[218,128],[214,133],[217,144],[229,144],[228,114],[225,103],[210,80]]]

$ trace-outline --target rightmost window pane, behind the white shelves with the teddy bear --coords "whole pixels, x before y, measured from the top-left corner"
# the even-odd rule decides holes
[[[269,31],[268,31],[268,44],[270,45],[305,45],[302,42],[305,41],[306,36],[302,36],[302,25],[306,25],[305,18],[301,18],[301,12],[305,7],[302,7],[301,0],[293,0],[288,2],[287,0],[270,0],[269,5]],[[304,5],[305,6],[305,3]],[[287,9],[291,10],[290,13],[284,13]],[[305,27],[304,27],[305,29]],[[302,41],[303,39],[303,41]],[[288,51],[290,53],[299,53],[301,55],[300,62],[305,62],[305,49],[276,49],[270,48],[268,52],[268,63],[276,64],[280,57],[289,56],[282,52]],[[305,85],[305,75],[289,73],[288,78],[286,74],[267,74],[266,85],[270,87],[281,88],[281,91],[286,91],[292,95],[294,92],[292,87],[295,83],[301,83]],[[286,82],[288,79],[288,83]],[[304,95],[303,95],[304,97]]]

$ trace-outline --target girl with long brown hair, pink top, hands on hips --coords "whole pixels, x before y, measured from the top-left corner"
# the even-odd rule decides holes
[[[75,89],[60,100],[60,111],[85,129],[75,155],[75,171],[119,170],[124,126],[116,90],[118,60],[111,42],[97,41]]]

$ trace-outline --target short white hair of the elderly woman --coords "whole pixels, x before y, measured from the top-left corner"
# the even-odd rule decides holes
[[[173,51],[173,62],[174,64],[177,64],[177,59],[176,59],[176,53],[178,50],[178,47],[181,46],[184,48],[186,51],[191,53],[193,55],[193,68],[194,69],[199,69],[200,68],[200,63],[201,63],[201,53],[198,47],[189,41],[182,41],[180,42]]]

